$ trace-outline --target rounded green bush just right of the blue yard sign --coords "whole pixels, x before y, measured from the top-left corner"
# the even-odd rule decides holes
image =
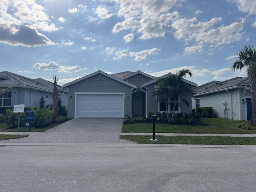
[[[49,124],[52,120],[53,110],[48,108],[37,108],[34,114],[34,124],[38,127],[43,127]]]

